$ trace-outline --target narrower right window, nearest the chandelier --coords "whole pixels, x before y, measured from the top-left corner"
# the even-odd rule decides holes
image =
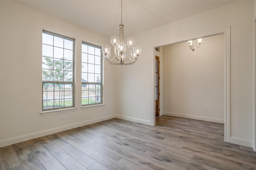
[[[82,106],[102,104],[101,47],[82,43]]]

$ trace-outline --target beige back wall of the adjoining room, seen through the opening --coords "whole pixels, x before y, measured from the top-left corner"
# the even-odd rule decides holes
[[[163,64],[165,115],[224,123],[224,34],[165,46]]]

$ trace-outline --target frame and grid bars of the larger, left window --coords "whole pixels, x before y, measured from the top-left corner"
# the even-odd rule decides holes
[[[47,111],[57,111],[57,110],[65,110],[65,109],[70,109],[70,108],[75,108],[75,83],[74,83],[74,77],[75,77],[75,70],[74,70],[74,67],[75,67],[75,39],[73,38],[70,38],[70,37],[66,37],[64,35],[60,35],[60,34],[57,34],[57,33],[52,33],[50,31],[46,31],[46,30],[42,30],[42,34],[43,33],[46,33],[46,34],[49,34],[49,35],[52,35],[52,36],[56,36],[56,37],[61,37],[63,39],[68,39],[68,40],[71,40],[72,41],[72,82],[71,81],[64,81],[64,77],[63,77],[63,81],[54,81],[54,76],[53,76],[53,79],[52,81],[46,81],[46,80],[43,80],[43,77],[42,77],[42,111],[43,112],[47,112]],[[53,39],[53,43],[54,43],[54,39]],[[48,44],[44,44],[43,41],[42,41],[42,47],[43,45],[48,45]],[[57,47],[57,46],[54,46],[54,44],[52,45],[52,47]],[[63,50],[65,49],[65,47],[60,47],[62,48]],[[43,51],[42,51],[42,62],[43,62]],[[53,56],[52,57],[49,57],[49,58],[52,58],[53,60],[53,64],[54,64],[54,51],[53,51]],[[58,58],[55,58],[55,59],[58,59]],[[63,58],[64,60],[64,53],[63,53]],[[70,61],[70,60],[66,60],[66,61]],[[63,66],[64,67],[64,66]],[[42,70],[45,69],[42,67]],[[52,70],[54,71],[54,66],[52,67],[52,69],[49,69],[49,70]],[[64,71],[68,71],[68,70],[64,70],[63,68],[63,72]],[[65,84],[71,84],[72,86],[72,106],[63,106],[63,107],[54,107],[53,108],[44,108],[44,83],[52,83],[53,84],[53,88],[54,90],[51,91],[53,92],[53,95],[55,96],[55,92],[58,92],[58,90],[55,91],[55,84],[63,84],[63,92],[65,92]],[[48,100],[48,99],[47,99]],[[64,99],[62,99],[64,101]]]

